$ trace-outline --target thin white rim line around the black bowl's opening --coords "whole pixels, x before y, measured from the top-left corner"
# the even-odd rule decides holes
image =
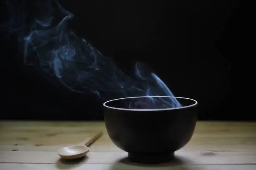
[[[115,101],[115,100],[131,99],[131,98],[142,98],[142,97],[148,97],[148,96],[124,97],[124,98],[119,98],[119,99],[113,99],[113,100],[109,100],[109,101],[107,101],[107,102],[104,102],[103,105],[104,105],[105,107],[110,108],[110,109],[115,109],[115,110],[128,110],[128,111],[161,111],[161,110],[174,110],[174,109],[183,109],[183,108],[187,108],[187,107],[191,107],[191,106],[197,105],[197,101],[194,100],[194,99],[190,99],[190,98],[186,98],[186,97],[172,97],[172,96],[149,96],[149,97],[180,98],[180,99],[193,100],[195,103],[192,104],[192,105],[188,105],[188,106],[174,107],[174,108],[166,108],[166,109],[125,109],[125,108],[119,108],[119,107],[110,107],[110,106],[107,106],[107,105],[106,105],[108,102],[112,102],[112,101]]]

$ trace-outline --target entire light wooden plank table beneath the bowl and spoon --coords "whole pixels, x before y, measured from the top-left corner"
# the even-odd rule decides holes
[[[57,150],[104,135],[85,158],[59,159]],[[108,137],[104,122],[0,122],[0,170],[256,170],[256,122],[197,122],[176,159],[161,165],[129,162]]]

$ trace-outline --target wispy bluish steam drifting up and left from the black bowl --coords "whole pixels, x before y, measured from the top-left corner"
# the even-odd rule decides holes
[[[26,1],[7,4],[10,20],[1,25],[4,31],[15,32],[23,45],[24,62],[55,76],[63,85],[75,92],[93,92],[104,100],[111,97],[148,96],[147,100],[128,103],[129,108],[144,109],[181,107],[164,82],[154,73],[136,63],[136,79],[125,75],[114,62],[102,55],[87,40],[69,30],[68,21],[74,15],[55,0],[31,2],[33,18],[26,12]],[[30,3],[30,5],[31,5]],[[19,7],[15,9],[14,7]],[[31,25],[26,22],[31,19]]]

